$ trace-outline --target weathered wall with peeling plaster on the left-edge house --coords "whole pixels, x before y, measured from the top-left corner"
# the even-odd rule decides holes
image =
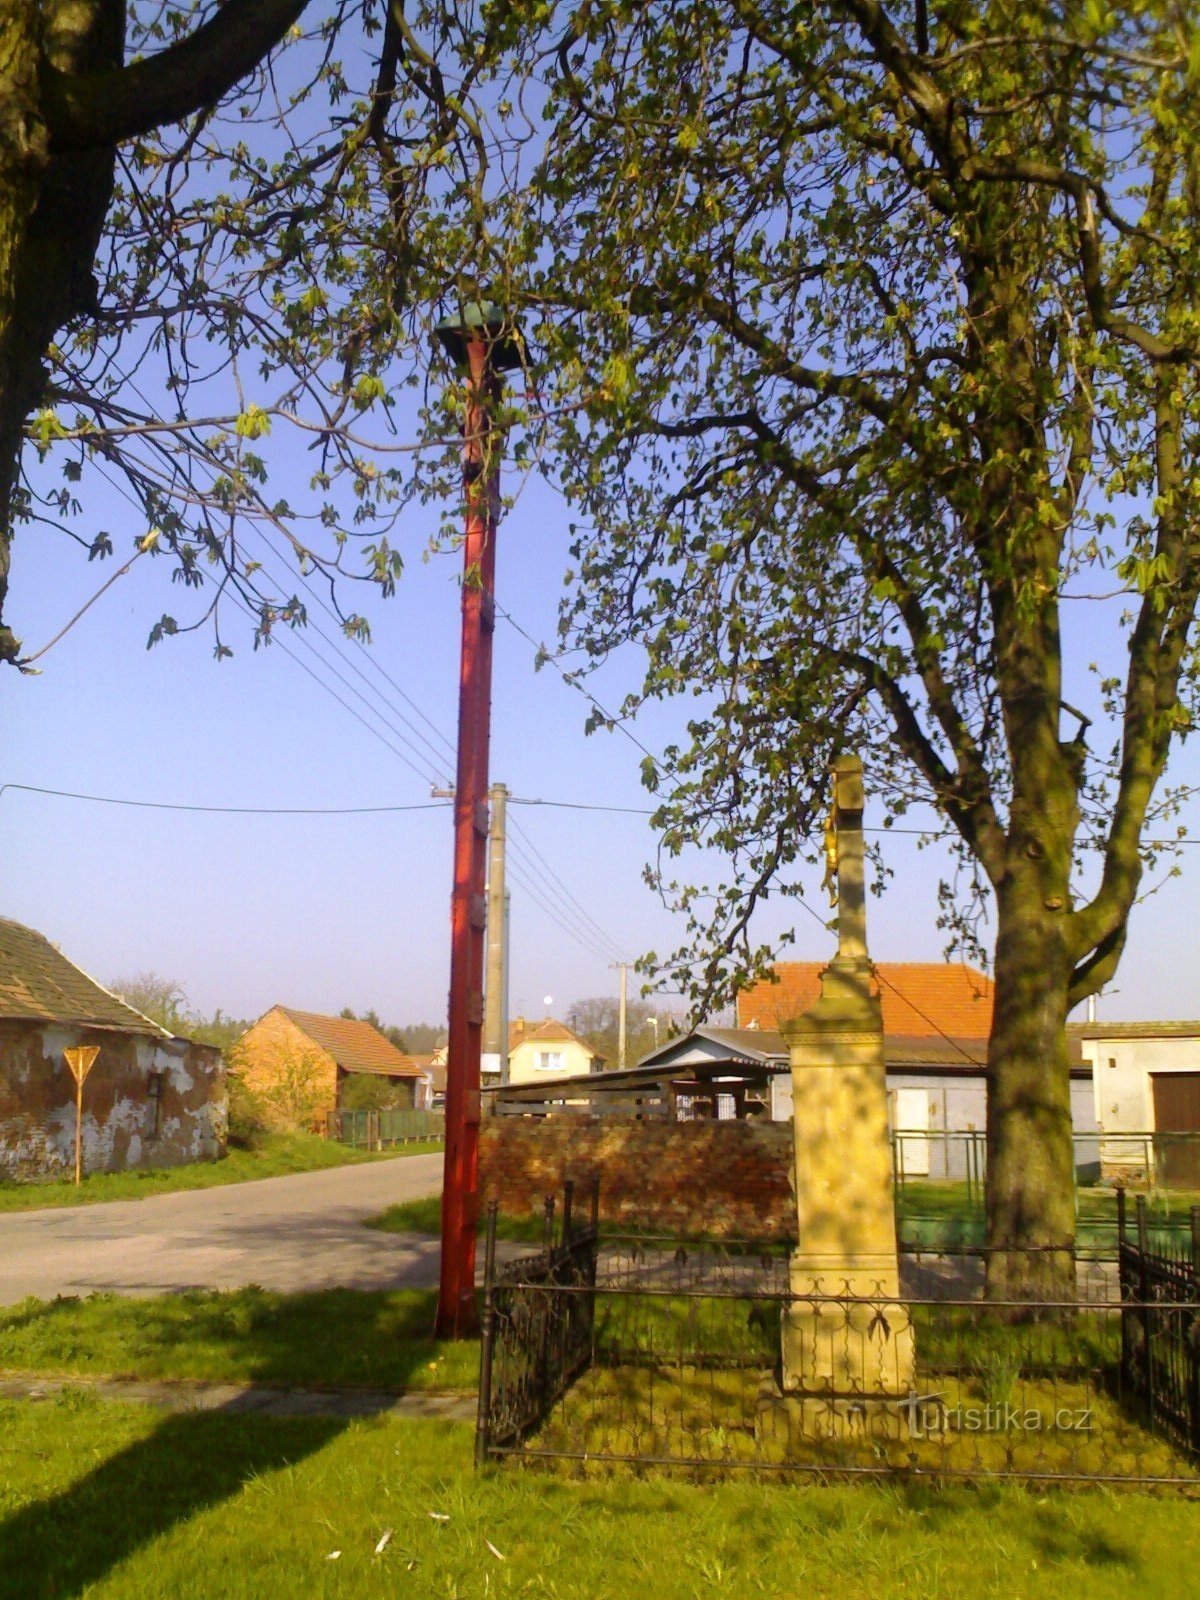
[[[85,1171],[178,1166],[224,1154],[226,1072],[210,1045],[0,1022],[0,1174],[74,1171],[75,1080],[62,1059],[70,1045],[99,1046],[83,1085]]]

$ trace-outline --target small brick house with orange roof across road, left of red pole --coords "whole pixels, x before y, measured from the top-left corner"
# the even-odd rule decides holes
[[[291,1123],[325,1126],[352,1074],[387,1078],[411,1106],[424,1067],[378,1027],[275,1005],[237,1042],[237,1070],[246,1088]]]

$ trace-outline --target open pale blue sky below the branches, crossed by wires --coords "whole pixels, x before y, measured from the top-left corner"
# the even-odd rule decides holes
[[[96,525],[114,525],[118,515],[118,507],[96,504]],[[538,640],[554,637],[566,525],[560,498],[531,478],[501,528],[498,600]],[[395,597],[370,598],[373,643],[365,651],[336,640],[320,613],[328,637],[286,635],[291,654],[280,646],[254,651],[250,624],[232,635],[232,661],[213,659],[206,634],[147,651],[150,626],[166,606],[179,608],[179,595],[165,562],[139,562],[48,651],[38,677],[0,678],[0,782],[178,805],[426,810],[194,814],[6,789],[0,912],[38,928],[104,982],[142,971],[176,979],[205,1014],[221,1008],[253,1018],[282,1003],[314,1011],[373,1006],[397,1022],[443,1018],[451,813],[430,803],[430,779],[448,781],[451,757],[432,728],[453,741],[459,558],[421,560],[424,531],[414,517],[411,560]],[[10,619],[27,648],[40,648],[114,565],[88,565],[66,538],[22,530]],[[302,638],[325,659],[314,658]],[[346,683],[331,675],[334,667]],[[616,662],[595,691],[613,704],[635,672],[635,659]],[[365,701],[354,699],[350,686]],[[646,949],[670,950],[683,936],[642,882],[654,851],[646,816],[566,808],[651,805],[638,779],[642,750],[619,733],[586,736],[587,710],[552,667],[534,670],[533,645],[501,622],[491,776],[514,798],[558,803],[510,810],[514,1016],[562,1016],[576,998],[614,995],[611,963]],[[422,773],[400,758],[411,749],[398,734],[413,733],[397,714],[427,733],[438,752],[416,757]],[[656,710],[638,723],[637,738],[658,749],[677,715]],[[446,765],[435,770],[440,760]],[[880,819],[880,806],[869,803],[867,826]],[[915,840],[894,837],[886,851],[894,875],[869,906],[872,954],[883,962],[939,960],[938,848],[918,851]],[[710,866],[720,874],[720,864]],[[806,899],[827,915],[816,875]],[[1184,877],[1134,910],[1128,954],[1115,992],[1101,998],[1101,1016],[1200,1013],[1192,904],[1194,869],[1186,859]],[[834,952],[819,917],[792,901],[768,902],[755,931],[778,938],[792,926],[789,958]],[[630,992],[638,982],[632,979]]]

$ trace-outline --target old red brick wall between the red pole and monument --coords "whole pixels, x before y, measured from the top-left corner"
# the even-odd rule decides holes
[[[792,1125],[635,1122],[616,1117],[485,1117],[480,1195],[510,1214],[538,1211],[571,1178],[600,1179],[614,1224],[714,1238],[792,1238]]]

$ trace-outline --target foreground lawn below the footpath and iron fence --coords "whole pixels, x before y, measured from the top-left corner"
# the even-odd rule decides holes
[[[1195,1594],[1200,1518],[1174,1498],[475,1475],[470,1445],[440,1422],[0,1405],[0,1600]]]

